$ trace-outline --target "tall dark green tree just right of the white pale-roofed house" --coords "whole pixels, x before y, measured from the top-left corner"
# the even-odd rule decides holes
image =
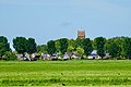
[[[102,58],[105,57],[105,46],[106,39],[104,37],[96,37],[94,39],[94,49],[97,50],[97,54],[100,55]]]

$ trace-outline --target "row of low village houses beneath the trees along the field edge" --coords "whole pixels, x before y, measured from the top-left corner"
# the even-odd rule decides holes
[[[102,59],[97,53],[95,53],[96,50],[94,50],[88,57],[87,60],[94,60],[94,59]],[[72,52],[66,52],[63,57],[61,57],[59,53],[53,53],[52,55],[48,54],[47,52],[44,52],[40,54],[38,53],[33,53],[33,54],[27,54],[25,53],[25,57],[23,58],[23,54],[16,54],[19,61],[37,61],[37,60],[51,60],[51,61],[67,61],[67,60],[81,60],[84,59],[83,57],[72,53]],[[103,59],[110,58],[109,53],[106,53],[106,57]]]

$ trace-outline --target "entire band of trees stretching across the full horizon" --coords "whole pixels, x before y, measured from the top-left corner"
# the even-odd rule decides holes
[[[81,57],[88,57],[93,50],[97,50],[97,54],[102,59],[106,53],[111,55],[110,59],[131,59],[130,37],[114,37],[108,39],[96,37],[94,40],[90,38],[60,38],[38,46],[34,38],[15,37],[13,38],[13,48],[15,52],[11,50],[7,37],[0,36],[0,60],[16,60],[16,53],[21,53],[24,57],[25,52],[28,54],[48,52],[50,55],[56,52],[59,52],[61,55],[66,52],[73,52]]]

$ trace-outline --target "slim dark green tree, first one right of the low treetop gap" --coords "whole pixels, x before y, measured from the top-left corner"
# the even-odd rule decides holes
[[[55,46],[55,41],[53,40],[50,40],[47,42],[47,48],[48,48],[48,53],[52,55],[52,53],[55,53],[57,50],[56,50],[56,46]]]

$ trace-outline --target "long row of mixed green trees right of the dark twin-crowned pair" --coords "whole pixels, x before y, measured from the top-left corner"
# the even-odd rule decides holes
[[[48,52],[52,54],[59,52],[73,52],[80,55],[88,57],[93,50],[97,50],[97,54],[102,59],[109,53],[110,59],[131,59],[131,38],[114,37],[106,39],[105,37],[96,37],[94,40],[85,39],[68,39],[60,38],[50,40],[47,45],[37,46],[37,52]]]

